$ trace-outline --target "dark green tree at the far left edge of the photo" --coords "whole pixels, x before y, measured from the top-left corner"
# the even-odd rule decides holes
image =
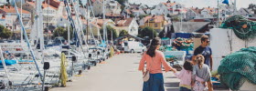
[[[13,33],[10,30],[5,28],[4,25],[0,25],[0,37],[1,38],[9,38],[11,35],[13,35]]]

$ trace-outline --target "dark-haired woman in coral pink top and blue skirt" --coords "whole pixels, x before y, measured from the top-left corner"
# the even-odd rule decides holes
[[[144,63],[146,63],[146,70],[150,73],[149,80],[144,82],[143,91],[165,91],[162,65],[165,67],[165,72],[173,68],[165,61],[164,54],[157,50],[160,45],[160,38],[155,37],[141,59],[139,70],[144,74]]]

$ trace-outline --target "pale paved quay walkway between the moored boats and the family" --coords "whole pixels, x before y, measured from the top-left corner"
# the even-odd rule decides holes
[[[142,73],[137,70],[141,56],[122,54],[113,56],[106,64],[91,67],[82,76],[74,76],[66,87],[51,91],[142,91]],[[172,72],[164,74],[165,91],[178,91],[178,82]]]

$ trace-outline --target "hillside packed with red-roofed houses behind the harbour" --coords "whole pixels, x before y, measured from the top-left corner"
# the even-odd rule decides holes
[[[164,37],[171,37],[171,33],[206,33],[210,28],[215,27],[215,24],[221,23],[231,15],[243,15],[256,21],[256,11],[255,8],[251,8],[254,6],[252,4],[234,12],[232,5],[220,5],[218,11],[216,7],[187,7],[176,3],[176,1],[162,2],[153,7],[129,4],[128,2],[120,2],[123,3],[120,4],[118,1],[122,0],[106,0],[104,14],[102,12],[102,0],[90,0],[91,6],[88,7],[81,3],[75,3],[75,5],[79,5],[77,8],[79,17],[76,17],[72,10],[73,18],[80,18],[80,25],[85,31],[90,26],[95,37],[100,35],[98,31],[104,24],[112,26],[117,36],[122,30],[125,30],[129,35],[144,37],[139,35],[141,30],[145,27],[151,27],[156,31],[156,35],[164,34]],[[35,1],[17,1],[17,6],[19,12],[22,13],[23,23],[29,34],[33,31],[31,28],[37,16],[35,14]],[[45,34],[54,34],[58,27],[69,25],[63,1],[43,1],[41,7]],[[105,20],[103,20],[103,15]],[[14,35],[19,36],[20,25],[17,23],[16,10],[13,5],[6,3],[0,7],[0,21],[0,25],[4,25]],[[7,38],[15,37],[14,35]]]

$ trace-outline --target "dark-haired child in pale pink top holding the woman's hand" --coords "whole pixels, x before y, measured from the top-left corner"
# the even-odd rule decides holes
[[[192,70],[193,70],[193,65],[185,61],[184,68],[180,71],[179,74],[176,73],[176,69],[174,69],[175,76],[180,79],[179,83],[179,91],[191,91],[191,82],[192,82]],[[197,77],[197,80],[202,81],[201,78]]]

